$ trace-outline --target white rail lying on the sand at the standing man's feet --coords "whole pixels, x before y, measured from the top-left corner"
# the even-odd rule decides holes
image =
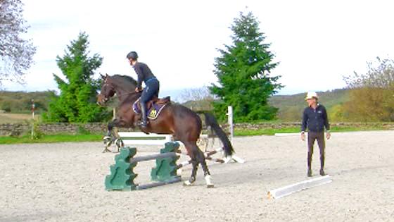
[[[324,185],[326,183],[331,183],[331,177],[329,175],[324,175],[319,178],[313,178],[310,180],[304,180],[299,183],[293,183],[291,185],[287,185],[285,187],[280,187],[274,190],[269,190],[267,195],[268,199],[279,199],[281,197],[285,197],[287,195],[291,195],[292,193],[299,192],[301,190],[306,190],[311,187],[316,187],[319,185]]]

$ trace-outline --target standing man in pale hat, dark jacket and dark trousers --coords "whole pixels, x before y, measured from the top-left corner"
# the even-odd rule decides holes
[[[317,144],[320,149],[320,175],[326,175],[324,173],[324,149],[326,144],[324,141],[324,128],[326,128],[327,140],[330,139],[331,134],[329,132],[329,118],[327,116],[327,111],[324,106],[317,102],[316,92],[308,92],[305,101],[307,101],[307,108],[304,109],[303,113],[303,123],[301,125],[301,140],[305,141],[305,130],[308,128],[307,137],[307,176],[312,177],[312,154],[314,140],[317,140]]]

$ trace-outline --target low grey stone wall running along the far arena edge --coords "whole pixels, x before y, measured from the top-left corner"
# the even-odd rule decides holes
[[[385,128],[394,129],[394,123],[331,123],[337,127],[354,127],[354,128]],[[224,130],[228,130],[228,125],[223,125]],[[278,129],[278,128],[300,128],[300,123],[235,123],[235,130],[258,130],[258,129]],[[106,123],[45,123],[39,125],[46,135],[65,133],[77,134],[82,131],[92,133],[105,133],[107,129]],[[32,130],[32,126],[28,123],[6,123],[0,124],[0,135],[23,135],[28,134]],[[129,128],[120,128],[119,131],[133,131]]]

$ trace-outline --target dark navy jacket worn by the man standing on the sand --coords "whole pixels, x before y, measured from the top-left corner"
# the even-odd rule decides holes
[[[308,128],[312,132],[323,132],[324,127],[326,127],[326,130],[330,130],[329,118],[324,106],[317,104],[316,109],[311,107],[304,109],[301,131]]]

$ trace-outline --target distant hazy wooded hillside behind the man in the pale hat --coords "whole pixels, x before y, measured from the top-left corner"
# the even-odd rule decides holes
[[[331,114],[333,114],[341,104],[349,100],[349,91],[344,89],[317,92],[317,94],[319,95],[319,103],[326,107],[331,119],[334,118],[334,115]],[[302,112],[306,107],[306,102],[304,100],[305,96],[306,93],[286,96],[277,95],[269,99],[269,104],[279,108],[279,120],[300,121]]]

